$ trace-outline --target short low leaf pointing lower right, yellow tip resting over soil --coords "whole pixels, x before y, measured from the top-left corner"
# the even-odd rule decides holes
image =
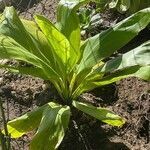
[[[122,126],[125,123],[123,118],[105,108],[94,107],[90,104],[77,101],[73,101],[72,104],[74,107],[83,111],[84,113],[112,126]]]

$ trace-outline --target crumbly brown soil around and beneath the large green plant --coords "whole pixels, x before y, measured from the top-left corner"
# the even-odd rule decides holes
[[[19,5],[18,5],[19,6]],[[38,12],[54,20],[57,2],[42,0],[21,9],[25,18],[31,19]],[[45,11],[43,11],[43,9]],[[106,16],[106,14],[104,14]],[[108,17],[105,17],[108,24]],[[107,25],[106,24],[106,25]],[[108,25],[107,25],[108,26]],[[131,41],[122,51],[134,47],[135,43],[149,39],[146,31]],[[144,36],[143,36],[144,35]],[[130,49],[130,48],[129,48]],[[6,111],[7,120],[21,116],[55,99],[53,87],[47,82],[25,75],[0,70],[0,98]],[[150,83],[127,78],[109,86],[84,93],[83,101],[95,106],[107,107],[126,119],[123,127],[106,125],[81,112],[70,121],[66,136],[59,150],[149,150],[150,149]],[[2,120],[0,124],[2,123]],[[28,150],[33,132],[18,140],[12,139],[12,149]]]

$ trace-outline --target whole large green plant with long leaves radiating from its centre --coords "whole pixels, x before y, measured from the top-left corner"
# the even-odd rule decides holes
[[[150,41],[108,62],[103,60],[133,39],[150,22],[150,8],[141,10],[112,28],[81,41],[76,10],[88,0],[61,0],[57,23],[36,15],[35,22],[20,20],[7,7],[0,22],[0,59],[15,59],[30,66],[1,64],[13,72],[52,82],[61,100],[51,101],[8,122],[18,138],[33,129],[31,150],[53,150],[60,145],[73,107],[107,124],[121,126],[124,119],[105,108],[80,102],[86,91],[128,76],[150,80]]]

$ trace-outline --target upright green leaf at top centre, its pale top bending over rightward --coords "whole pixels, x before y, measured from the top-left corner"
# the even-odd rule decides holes
[[[60,31],[70,41],[76,53],[80,55],[80,24],[76,10],[89,0],[61,0],[57,9],[57,22]]]

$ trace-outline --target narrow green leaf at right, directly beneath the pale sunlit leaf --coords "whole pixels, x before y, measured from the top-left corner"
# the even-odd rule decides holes
[[[124,70],[111,73],[97,80],[85,79],[84,82],[73,92],[73,98],[78,97],[81,93],[90,91],[96,87],[111,84],[127,77],[138,77],[143,80],[150,81],[150,66],[133,66]]]

